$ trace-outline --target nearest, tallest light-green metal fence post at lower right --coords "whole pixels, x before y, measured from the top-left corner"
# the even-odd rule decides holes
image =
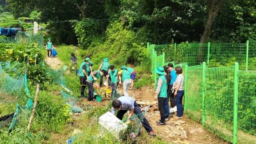
[[[233,144],[237,143],[238,70],[239,70],[239,64],[236,62],[235,63],[235,72],[234,72]]]

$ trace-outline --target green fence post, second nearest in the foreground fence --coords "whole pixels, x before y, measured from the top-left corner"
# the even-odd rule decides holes
[[[205,85],[206,85],[206,81],[205,81],[205,76],[206,76],[206,63],[203,63],[203,79],[202,79],[202,125],[205,125],[205,101],[204,101],[204,97],[205,97]]]

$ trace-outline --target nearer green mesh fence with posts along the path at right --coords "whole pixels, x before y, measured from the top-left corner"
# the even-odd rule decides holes
[[[184,112],[232,143],[256,141],[256,71],[186,67]]]

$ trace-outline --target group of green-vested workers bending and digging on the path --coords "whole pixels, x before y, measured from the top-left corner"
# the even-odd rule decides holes
[[[71,54],[72,63],[74,63],[76,56],[74,53]],[[85,58],[79,67],[79,78],[81,84],[81,97],[84,97],[84,90],[86,85],[88,86],[88,100],[95,101],[93,95],[94,88],[93,83],[97,83],[97,79],[100,78],[99,86],[103,86],[103,77],[105,77],[108,86],[112,87],[111,97],[114,97],[113,92],[116,90],[118,84],[123,84],[124,95],[128,96],[128,90],[132,90],[134,80],[136,77],[136,71],[133,68],[122,66],[121,70],[117,70],[114,65],[109,64],[109,59],[104,58],[98,70],[92,68],[92,61],[90,58]]]

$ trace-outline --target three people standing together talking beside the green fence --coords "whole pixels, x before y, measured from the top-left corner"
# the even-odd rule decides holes
[[[158,67],[156,70],[158,74],[156,95],[154,100],[158,100],[158,108],[161,119],[157,125],[165,125],[165,121],[169,120],[170,108],[177,106],[177,116],[175,119],[182,118],[183,106],[182,98],[184,96],[184,76],[182,75],[182,68],[173,68],[173,64],[168,66]],[[169,107],[169,98],[170,104]]]

